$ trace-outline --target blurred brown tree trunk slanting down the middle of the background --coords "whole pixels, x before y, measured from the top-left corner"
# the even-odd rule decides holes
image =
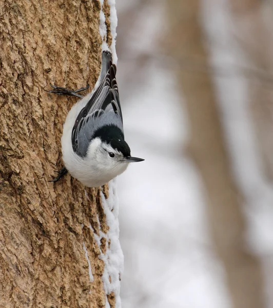
[[[233,179],[225,137],[208,70],[205,37],[200,25],[200,1],[167,2],[170,32],[167,43],[178,61],[179,85],[188,111],[189,155],[206,189],[209,226],[216,252],[225,270],[230,299],[236,308],[264,307],[263,277],[259,260],[244,243],[243,197]],[[182,67],[185,62],[187,69]]]

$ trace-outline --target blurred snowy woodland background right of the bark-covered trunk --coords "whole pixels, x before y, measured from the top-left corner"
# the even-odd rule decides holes
[[[116,8],[123,308],[273,308],[273,1]]]

